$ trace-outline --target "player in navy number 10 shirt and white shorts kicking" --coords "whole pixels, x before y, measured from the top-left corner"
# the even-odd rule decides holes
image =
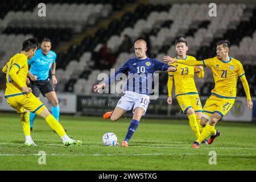
[[[99,89],[104,88],[106,85],[115,81],[115,78],[119,73],[126,73],[129,71],[125,95],[120,98],[113,113],[110,112],[111,114],[109,114],[109,118],[112,121],[117,121],[126,113],[126,111],[131,110],[133,107],[133,119],[131,120],[126,137],[122,142],[123,147],[128,147],[128,142],[137,129],[141,117],[146,113],[148,104],[150,103],[152,77],[154,76],[154,72],[175,72],[177,70],[174,66],[147,57],[147,43],[143,39],[139,39],[135,42],[134,51],[136,57],[127,60],[125,64],[123,64],[123,66],[104,83],[93,86],[94,92],[97,92]]]

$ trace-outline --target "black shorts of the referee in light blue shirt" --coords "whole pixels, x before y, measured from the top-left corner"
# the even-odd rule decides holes
[[[44,97],[45,95],[49,92],[55,91],[51,82],[49,82],[49,78],[47,80],[38,80],[38,81],[32,81],[30,80],[30,84],[28,85],[32,89],[32,93],[36,96],[39,97],[40,92],[43,94]]]

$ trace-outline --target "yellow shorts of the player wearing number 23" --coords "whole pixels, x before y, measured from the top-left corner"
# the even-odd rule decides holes
[[[184,114],[186,114],[187,110],[191,107],[195,113],[202,111],[202,105],[198,94],[177,95],[176,99]]]

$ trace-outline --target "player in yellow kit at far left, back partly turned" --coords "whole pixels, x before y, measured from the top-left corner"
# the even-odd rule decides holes
[[[46,119],[48,125],[61,137],[65,146],[80,146],[80,140],[68,137],[63,127],[47,110],[46,106],[32,94],[31,88],[26,85],[28,64],[27,59],[35,55],[38,47],[36,38],[27,39],[22,44],[22,51],[16,53],[7,62],[2,71],[6,73],[5,98],[7,103],[20,115],[26,146],[36,146],[30,135],[30,111]]]

